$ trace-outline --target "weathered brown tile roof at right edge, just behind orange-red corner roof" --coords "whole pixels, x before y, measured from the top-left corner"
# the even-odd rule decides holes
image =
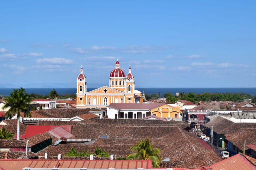
[[[244,150],[244,140],[246,140],[246,144],[256,144],[256,133],[245,128],[237,130],[234,133],[229,134],[226,137],[226,140],[230,141],[238,147],[240,150]],[[248,147],[245,147],[246,150]]]

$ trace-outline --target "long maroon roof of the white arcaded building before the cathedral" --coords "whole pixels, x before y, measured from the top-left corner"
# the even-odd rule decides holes
[[[165,103],[111,103],[110,108],[114,109],[154,109],[165,105]]]

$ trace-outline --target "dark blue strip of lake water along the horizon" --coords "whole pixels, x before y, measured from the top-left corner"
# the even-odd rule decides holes
[[[27,93],[36,93],[40,95],[49,94],[52,88],[25,88]],[[96,88],[87,88],[87,92],[94,90]],[[55,88],[56,92],[59,94],[75,94],[76,88]],[[209,93],[247,93],[251,95],[256,95],[256,88],[136,88],[145,94],[152,94],[160,92],[161,96],[164,93],[172,93],[176,95],[176,92],[185,93],[195,93],[201,94],[205,92]],[[13,91],[13,88],[0,88],[0,95],[8,96]]]

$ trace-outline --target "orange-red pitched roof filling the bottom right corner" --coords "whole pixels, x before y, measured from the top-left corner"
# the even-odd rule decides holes
[[[239,153],[211,165],[210,168],[212,170],[256,170],[256,164],[253,163],[255,161],[255,159],[248,158],[248,156]]]

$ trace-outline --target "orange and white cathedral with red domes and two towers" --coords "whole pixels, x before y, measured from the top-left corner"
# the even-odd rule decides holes
[[[110,72],[109,87],[103,86],[87,92],[87,80],[82,67],[76,83],[77,108],[106,108],[111,103],[143,103],[142,93],[135,90],[135,79],[131,67],[125,76],[119,61],[116,61],[116,68]]]

